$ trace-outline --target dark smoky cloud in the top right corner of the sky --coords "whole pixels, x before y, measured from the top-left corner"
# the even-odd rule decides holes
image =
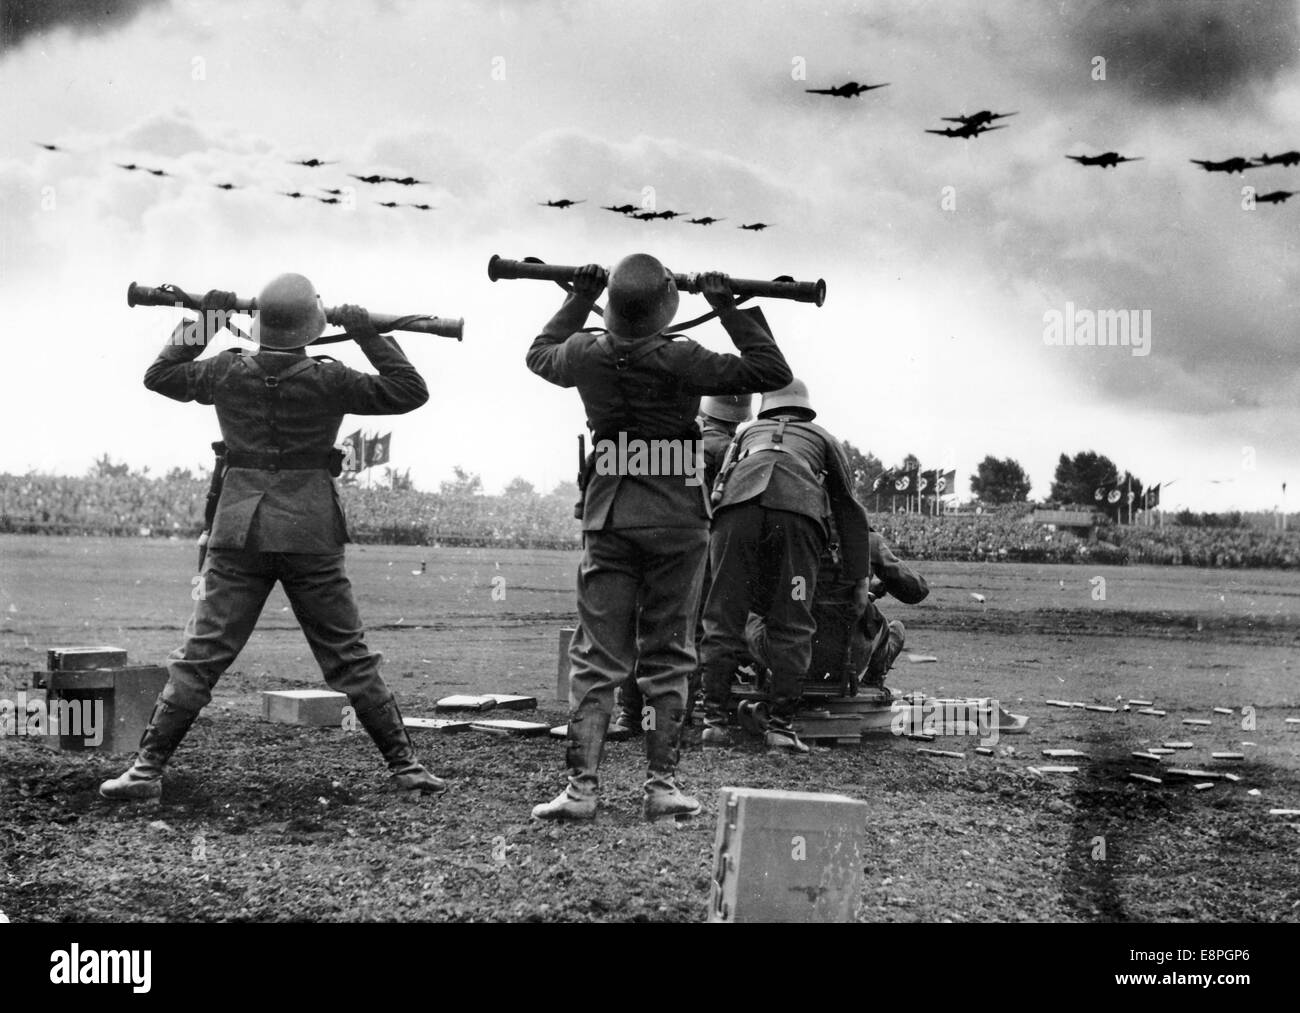
[[[1226,100],[1300,57],[1296,0],[1092,0],[1071,20],[1076,56],[1160,105]]]

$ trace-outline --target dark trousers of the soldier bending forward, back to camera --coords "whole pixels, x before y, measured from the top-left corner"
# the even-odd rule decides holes
[[[727,507],[714,518],[712,584],[705,603],[701,645],[705,702],[725,707],[732,676],[749,654],[750,612],[763,618],[766,661],[772,672],[772,713],[793,715],[812,658],[812,598],[826,544],[812,518],[758,503]]]

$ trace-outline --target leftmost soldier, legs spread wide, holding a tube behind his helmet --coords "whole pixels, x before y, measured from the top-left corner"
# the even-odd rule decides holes
[[[380,676],[380,654],[365,645],[352,586],[343,571],[347,528],[332,475],[332,454],[346,412],[400,415],[429,391],[398,343],[381,337],[360,307],[343,307],[343,328],[378,376],[304,349],[325,329],[312,283],[282,274],[257,296],[256,355],[239,349],[194,359],[234,308],[212,291],[203,319],[183,321],[144,375],[144,385],[174,401],[213,404],[226,445],[226,472],[213,518],[202,593],[183,646],[168,659],[159,696],[130,770],[104,782],[105,798],[156,798],[162,769],[212,700],[212,689],[252,635],[278,580],[332,689],[346,693],[404,789],[445,784],[416,759],[396,701]],[[182,339],[183,332],[194,328]]]

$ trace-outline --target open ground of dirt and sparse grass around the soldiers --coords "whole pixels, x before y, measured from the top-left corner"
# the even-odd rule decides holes
[[[564,719],[555,645],[575,619],[576,562],[556,551],[348,550],[370,645],[408,715],[452,692],[507,692],[537,696],[552,723]],[[0,537],[0,696],[26,687],[49,646],[113,644],[133,662],[161,659],[179,642],[194,564],[187,542]],[[902,661],[889,684],[997,697],[1030,715],[1028,733],[1004,737],[994,757],[975,756],[970,739],[933,743],[965,759],[924,757],[888,736],[802,758],[757,745],[702,753],[690,741],[681,771],[705,814],[681,824],[641,819],[636,741],[607,748],[597,823],[552,827],[528,811],[562,784],[555,740],[417,733],[451,789],[412,801],[387,791],[364,733],[261,722],[257,691],[322,685],[277,590],[169,769],[161,806],[98,797],[121,758],[0,739],[0,910],[16,922],[698,921],[716,789],[740,784],[842,792],[871,806],[863,921],[1300,919],[1297,824],[1268,811],[1300,808],[1300,726],[1284,722],[1300,717],[1300,575],[919,568],[930,599],[887,612],[907,624],[909,651],[939,662]],[[1044,704],[1130,697],[1167,715]],[[1254,727],[1243,730],[1247,706]],[[1130,753],[1170,739],[1195,743],[1175,757],[1182,766],[1226,769],[1212,752],[1245,753],[1231,763],[1242,780],[1205,792],[1128,780],[1147,771]],[[1030,771],[1053,762],[1041,757],[1048,748],[1089,758],[1079,774]]]

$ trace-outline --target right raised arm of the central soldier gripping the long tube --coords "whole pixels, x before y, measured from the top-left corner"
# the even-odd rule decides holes
[[[718,311],[718,320],[740,355],[708,351],[690,342],[685,346],[686,390],[692,394],[754,394],[779,390],[794,378],[772,335],[754,316],[736,306],[725,274],[702,276],[699,291]]]

